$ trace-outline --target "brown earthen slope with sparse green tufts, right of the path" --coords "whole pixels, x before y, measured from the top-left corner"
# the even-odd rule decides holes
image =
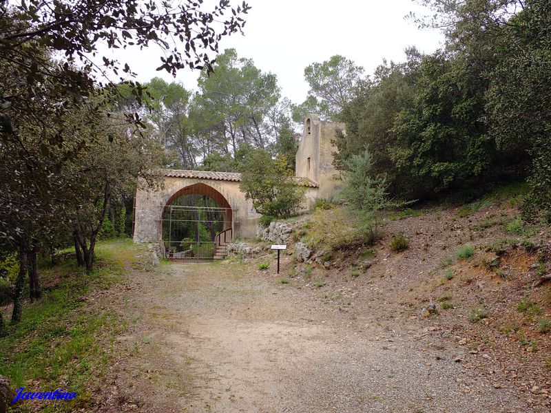
[[[293,223],[294,240],[313,253],[291,263],[290,279],[299,288],[317,286],[335,304],[353,298],[382,319],[435,328],[468,348],[470,359],[461,362],[481,368],[491,361],[545,400],[551,233],[522,222],[523,191],[515,185],[469,204],[381,213],[375,239],[357,213],[324,204]]]

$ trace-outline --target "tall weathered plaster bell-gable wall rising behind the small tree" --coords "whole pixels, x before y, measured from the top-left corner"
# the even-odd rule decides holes
[[[315,115],[309,115],[304,121],[295,162],[296,176],[319,184],[317,198],[330,198],[339,191],[340,182],[333,179],[337,174],[333,167],[333,152],[337,148],[331,143],[338,130],[344,131],[343,123],[324,122]]]

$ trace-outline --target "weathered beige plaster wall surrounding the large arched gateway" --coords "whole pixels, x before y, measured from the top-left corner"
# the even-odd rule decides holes
[[[149,189],[143,184],[136,191],[134,242],[160,242],[163,234],[163,209],[174,193],[189,185],[202,183],[220,192],[233,209],[233,237],[254,237],[260,214],[239,189],[239,182],[195,178],[165,177],[163,189]],[[205,194],[206,195],[206,194]],[[221,205],[225,207],[225,205]]]

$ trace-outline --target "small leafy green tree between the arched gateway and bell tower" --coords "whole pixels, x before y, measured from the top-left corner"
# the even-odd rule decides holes
[[[297,187],[291,177],[293,170],[284,156],[275,160],[263,149],[249,152],[241,167],[240,189],[253,201],[253,207],[264,215],[262,221],[289,218],[300,209],[304,189]]]

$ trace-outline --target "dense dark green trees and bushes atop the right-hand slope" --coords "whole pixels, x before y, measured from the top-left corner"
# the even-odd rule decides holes
[[[477,194],[532,170],[526,215],[549,211],[548,2],[468,0],[446,10],[436,16],[454,22],[444,50],[410,49],[357,87],[340,114],[346,136],[337,137],[335,166],[349,171],[368,148],[372,176],[384,173],[388,192],[404,200]]]

